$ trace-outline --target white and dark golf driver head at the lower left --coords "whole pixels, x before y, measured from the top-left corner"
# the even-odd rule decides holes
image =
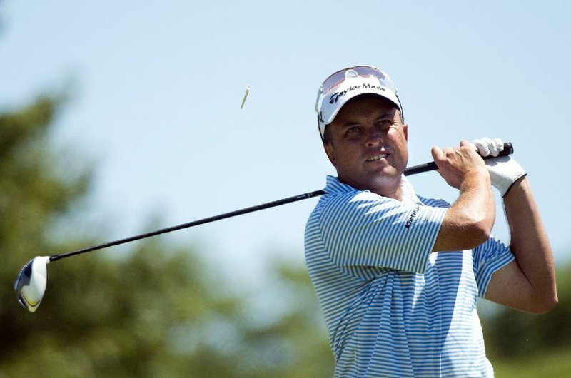
[[[48,280],[46,265],[48,264],[49,256],[34,257],[24,265],[14,282],[18,302],[29,312],[36,311],[46,292]]]

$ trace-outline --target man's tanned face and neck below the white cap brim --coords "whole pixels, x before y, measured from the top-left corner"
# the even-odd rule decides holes
[[[325,153],[343,183],[400,199],[408,126],[393,103],[380,97],[355,98],[327,128]]]

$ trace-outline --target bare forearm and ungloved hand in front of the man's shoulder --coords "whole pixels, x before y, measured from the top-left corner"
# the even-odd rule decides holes
[[[433,252],[467,250],[485,242],[495,222],[495,203],[490,174],[473,145],[460,142],[459,148],[433,148],[438,173],[448,185],[460,190],[458,199],[446,212]]]

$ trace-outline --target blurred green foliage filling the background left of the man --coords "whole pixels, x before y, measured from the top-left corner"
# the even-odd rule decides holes
[[[101,242],[72,216],[91,170],[49,142],[63,105],[44,96],[0,114],[0,376],[330,377],[304,267],[274,265],[266,292],[225,292],[196,250],[154,237],[54,262],[39,309],[17,305],[25,262]],[[277,310],[260,317],[254,297]]]

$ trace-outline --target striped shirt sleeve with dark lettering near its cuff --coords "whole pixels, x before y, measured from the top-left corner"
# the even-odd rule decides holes
[[[445,208],[375,193],[333,195],[320,219],[325,250],[341,269],[382,267],[424,273]]]

